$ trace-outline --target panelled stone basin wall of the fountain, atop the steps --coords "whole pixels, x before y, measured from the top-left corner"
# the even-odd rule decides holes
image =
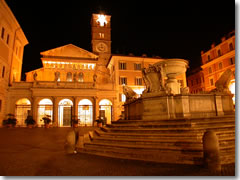
[[[228,94],[149,94],[125,103],[124,107],[126,119],[143,120],[214,117],[235,113],[232,95]]]

